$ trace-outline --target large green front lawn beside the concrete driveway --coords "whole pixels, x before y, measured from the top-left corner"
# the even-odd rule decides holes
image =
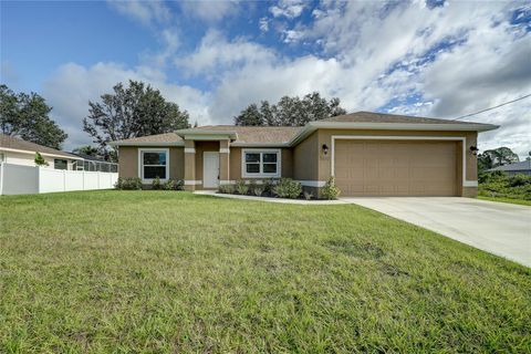
[[[0,352],[512,352],[531,270],[353,205],[0,197]]]

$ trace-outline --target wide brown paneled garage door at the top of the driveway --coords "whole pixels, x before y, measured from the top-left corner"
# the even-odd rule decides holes
[[[342,196],[456,196],[456,142],[336,140]]]

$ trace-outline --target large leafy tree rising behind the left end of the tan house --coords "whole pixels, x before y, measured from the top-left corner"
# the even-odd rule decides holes
[[[88,115],[83,119],[83,131],[102,152],[108,153],[112,140],[190,127],[188,112],[166,102],[150,85],[129,80],[128,87],[118,83],[113,90],[113,94],[102,95],[101,102],[88,102]]]

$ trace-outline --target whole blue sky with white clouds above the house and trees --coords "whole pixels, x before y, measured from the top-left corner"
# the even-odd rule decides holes
[[[312,91],[350,112],[456,118],[531,93],[529,1],[1,2],[1,82],[91,143],[87,102],[142,80],[199,124]],[[531,98],[466,121],[480,149],[531,150]]]

